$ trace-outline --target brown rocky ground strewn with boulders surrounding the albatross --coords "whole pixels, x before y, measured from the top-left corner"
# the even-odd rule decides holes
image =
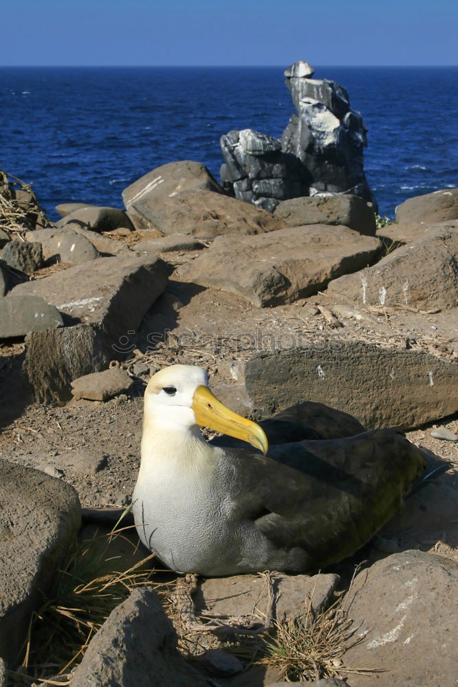
[[[215,394],[246,416],[265,417],[306,398],[322,401],[367,427],[402,427],[445,469],[362,551],[316,576],[313,594],[306,576],[179,582],[167,608],[181,648],[194,646],[199,657],[193,680],[154,593],[134,592],[113,611],[98,644],[91,642],[71,684],[152,684],[142,682],[139,667],[120,683],[127,665],[151,670],[148,646],[129,643],[136,624],[155,628],[155,665],[166,684],[272,684],[279,667],[259,662],[252,646],[203,632],[208,613],[244,618],[260,633],[275,599],[285,628],[280,599],[294,609],[292,621],[311,594],[319,592],[320,604],[314,600],[325,609],[344,598],[358,565],[345,597],[349,633],[339,642],[358,640],[347,653],[328,647],[327,674],[350,687],[455,684],[458,190],[407,201],[397,223],[377,231],[370,203],[356,196],[283,201],[270,214],[215,184],[199,164],[175,163],[124,192],[129,214],[69,205],[57,225],[39,213],[29,190],[20,189],[21,208],[17,185],[6,184],[9,196],[3,188],[10,215],[0,227],[0,560],[7,571],[0,648],[12,641],[14,599],[33,607],[36,587],[47,579],[40,547],[54,560],[77,526],[65,485],[92,509],[86,516],[129,504],[144,386],[153,372],[179,362],[207,368]],[[40,499],[56,490],[61,504],[38,499],[36,508],[46,513],[43,539],[34,517],[37,490]],[[24,552],[36,551],[22,591],[22,569],[14,565],[27,556],[12,552],[17,541]],[[194,606],[186,606],[191,596]],[[17,617],[17,627],[24,618]],[[197,642],[197,635],[206,640]],[[100,656],[121,645],[122,659],[108,675],[111,658],[104,663]],[[211,653],[221,647],[222,657]],[[239,663],[231,668],[234,652]],[[8,646],[0,655],[13,664]],[[167,675],[172,660],[177,672]],[[345,666],[360,670],[347,674]]]

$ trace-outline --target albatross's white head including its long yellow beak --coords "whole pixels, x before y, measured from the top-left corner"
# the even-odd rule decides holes
[[[266,453],[259,425],[232,412],[208,389],[208,374],[197,365],[170,365],[154,374],[144,394],[144,428],[188,434],[196,425],[221,431]]]

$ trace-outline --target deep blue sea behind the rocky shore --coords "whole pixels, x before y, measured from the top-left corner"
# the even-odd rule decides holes
[[[410,196],[458,186],[458,67],[319,67],[369,128],[364,167],[394,216]],[[219,137],[279,137],[294,105],[283,67],[0,67],[0,168],[41,205],[122,207],[121,192],[179,159],[219,180]]]

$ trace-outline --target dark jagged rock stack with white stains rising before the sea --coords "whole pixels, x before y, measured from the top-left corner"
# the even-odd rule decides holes
[[[375,205],[364,176],[367,129],[335,81],[314,79],[306,62],[285,70],[297,113],[280,139],[243,129],[221,137],[221,184],[236,198],[272,212],[300,196],[350,193]]]

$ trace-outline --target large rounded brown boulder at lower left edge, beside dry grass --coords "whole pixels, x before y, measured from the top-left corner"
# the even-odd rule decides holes
[[[12,665],[80,519],[72,486],[0,461],[0,656]]]

